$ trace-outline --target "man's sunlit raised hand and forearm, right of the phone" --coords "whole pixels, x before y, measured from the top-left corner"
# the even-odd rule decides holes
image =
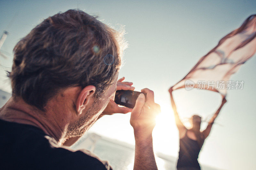
[[[135,159],[134,170],[156,170],[156,159],[153,151],[152,131],[156,125],[156,115],[160,113],[160,106],[154,101],[154,92],[142,89],[147,93],[140,94],[132,110],[130,123],[134,129]]]

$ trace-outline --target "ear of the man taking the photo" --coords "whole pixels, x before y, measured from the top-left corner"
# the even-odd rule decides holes
[[[82,89],[79,93],[77,100],[76,100],[76,113],[80,115],[86,105],[88,104],[89,100],[92,99],[92,95],[96,91],[95,86],[88,85]]]

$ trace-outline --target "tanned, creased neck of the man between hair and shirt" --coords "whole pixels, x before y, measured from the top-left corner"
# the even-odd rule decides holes
[[[13,97],[0,109],[0,119],[36,126],[42,129],[47,135],[53,137],[59,145],[64,142],[69,124],[64,119],[58,119],[56,117],[58,115],[60,116],[60,114],[54,113],[54,110],[52,110],[52,113],[49,111],[43,112],[36,107],[28,105],[20,98],[14,101]],[[63,117],[65,118],[66,116]],[[58,120],[61,121],[58,122]]]

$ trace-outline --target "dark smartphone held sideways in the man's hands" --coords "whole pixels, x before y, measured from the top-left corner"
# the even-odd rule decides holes
[[[115,94],[115,102],[116,104],[133,108],[140,93],[143,92],[136,92],[132,90],[117,90]],[[146,101],[146,93],[143,94],[145,95]]]

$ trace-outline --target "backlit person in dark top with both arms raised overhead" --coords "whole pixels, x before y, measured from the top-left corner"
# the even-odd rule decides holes
[[[177,170],[200,170],[201,167],[198,163],[198,155],[204,144],[204,140],[209,136],[212,129],[212,124],[216,117],[220,113],[220,109],[227,102],[225,98],[222,99],[222,103],[216,113],[212,116],[208,123],[208,126],[203,131],[201,128],[201,117],[193,115],[192,128],[187,129],[180,121],[179,114],[177,113],[176,106],[172,97],[172,87],[169,89],[171,94],[172,109],[174,112],[175,122],[179,130],[180,135],[180,151],[177,162]]]

